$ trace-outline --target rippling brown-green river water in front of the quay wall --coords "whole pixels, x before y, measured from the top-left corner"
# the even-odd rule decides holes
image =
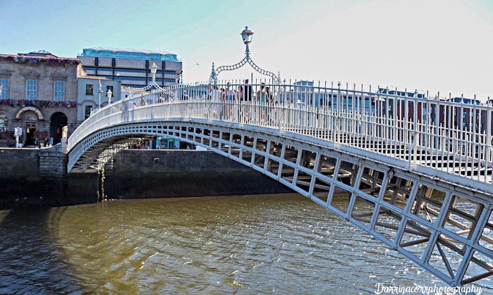
[[[0,211],[0,293],[373,293],[445,286],[298,194]]]

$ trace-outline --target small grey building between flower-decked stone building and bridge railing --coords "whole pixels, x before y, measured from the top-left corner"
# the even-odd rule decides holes
[[[106,77],[80,76],[77,90],[77,123],[90,117],[91,112],[108,104],[108,90],[111,90],[111,102],[122,99],[121,81]]]

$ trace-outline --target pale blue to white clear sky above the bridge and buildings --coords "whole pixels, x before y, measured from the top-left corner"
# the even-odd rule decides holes
[[[208,79],[213,61],[243,58],[245,25],[253,61],[286,80],[493,98],[489,0],[0,0],[0,53],[164,50],[183,61],[184,82],[195,82]],[[252,72],[245,65],[219,78]]]

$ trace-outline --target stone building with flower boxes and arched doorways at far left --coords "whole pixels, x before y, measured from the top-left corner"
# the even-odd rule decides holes
[[[0,54],[0,144],[11,145],[13,129],[21,127],[24,146],[61,140],[77,127],[76,58],[59,58],[47,51]]]

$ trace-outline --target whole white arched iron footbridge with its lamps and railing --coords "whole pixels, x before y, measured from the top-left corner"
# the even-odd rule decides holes
[[[491,282],[492,106],[281,80],[252,62],[252,32],[242,36],[245,58],[209,81],[153,79],[93,113],[68,139],[68,171],[101,170],[145,138],[179,139],[285,184],[448,284]],[[217,79],[247,63],[269,80]]]

